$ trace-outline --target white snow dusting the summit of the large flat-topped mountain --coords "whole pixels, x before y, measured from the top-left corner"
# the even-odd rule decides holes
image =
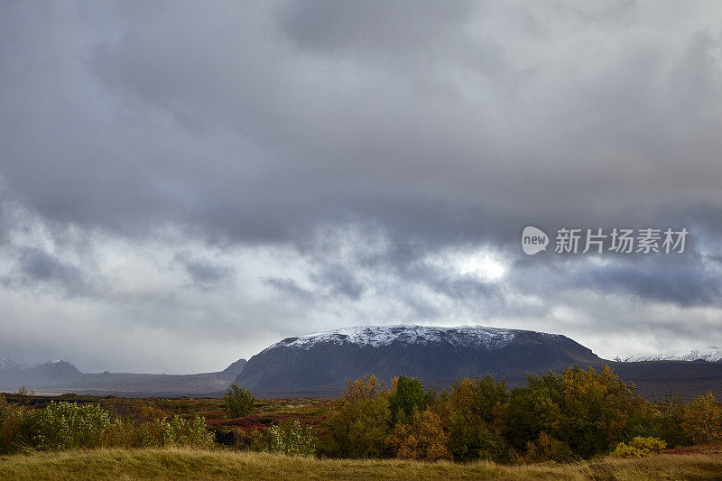
[[[514,339],[510,329],[467,326],[459,328],[431,328],[425,326],[366,326],[338,328],[309,334],[299,338],[286,338],[267,347],[297,347],[309,349],[321,343],[358,346],[389,346],[393,342],[403,344],[435,344],[449,342],[456,346],[484,346],[487,350],[506,347]]]

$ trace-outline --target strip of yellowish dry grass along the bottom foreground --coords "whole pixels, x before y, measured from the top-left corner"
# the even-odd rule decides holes
[[[0,479],[722,479],[722,456],[662,454],[572,465],[503,467],[338,460],[191,449],[96,449],[0,457]]]

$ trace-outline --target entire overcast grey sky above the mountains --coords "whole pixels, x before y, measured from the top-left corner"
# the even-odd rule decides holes
[[[722,5],[0,3],[0,356],[353,325],[722,347]],[[686,227],[527,256],[523,227]]]

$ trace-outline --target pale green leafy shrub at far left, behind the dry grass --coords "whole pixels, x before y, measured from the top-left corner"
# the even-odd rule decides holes
[[[96,448],[111,425],[99,406],[51,401],[33,423],[32,443],[37,449]]]

